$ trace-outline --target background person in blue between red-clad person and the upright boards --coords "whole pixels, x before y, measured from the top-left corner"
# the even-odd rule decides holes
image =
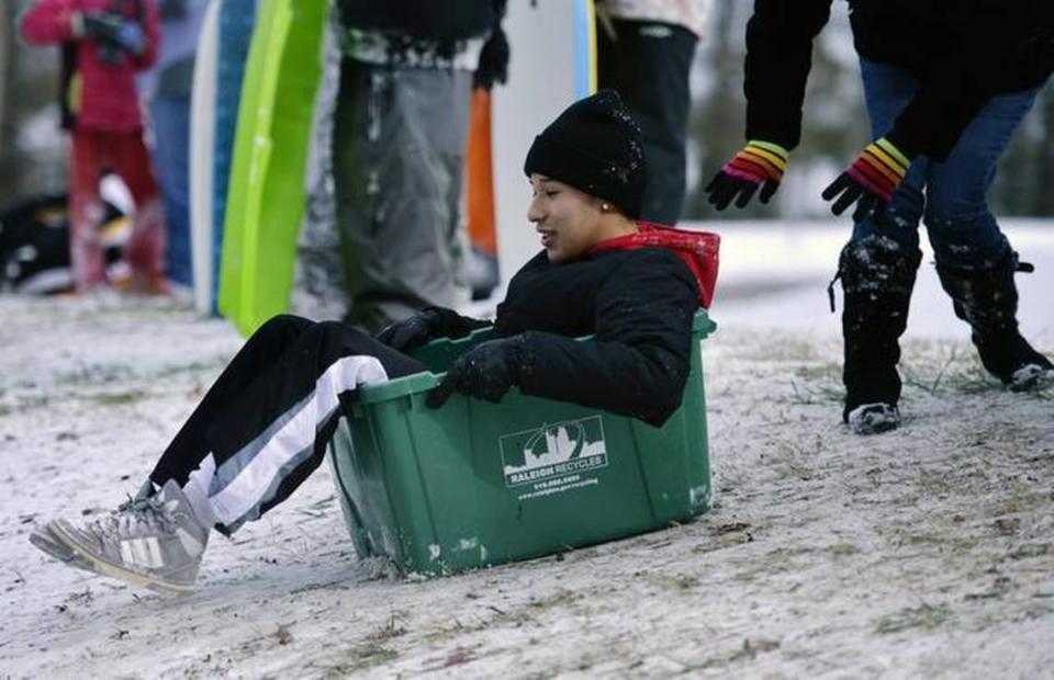
[[[160,0],[161,48],[139,80],[150,112],[154,167],[168,227],[166,273],[178,286],[193,285],[190,247],[190,94],[194,53],[209,0]]]

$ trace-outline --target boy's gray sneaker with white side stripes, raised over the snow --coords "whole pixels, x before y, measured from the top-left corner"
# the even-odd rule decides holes
[[[55,520],[47,530],[87,569],[158,592],[192,592],[209,543],[209,528],[198,522],[175,480],[83,526]]]

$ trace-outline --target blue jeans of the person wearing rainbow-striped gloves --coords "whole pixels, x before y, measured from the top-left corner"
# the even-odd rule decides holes
[[[919,81],[904,69],[864,58],[860,71],[877,139],[893,129],[897,115],[919,91]],[[853,240],[877,234],[913,251],[922,220],[939,264],[977,269],[999,261],[1009,243],[988,207],[988,190],[999,157],[1038,92],[1039,88],[990,99],[943,162],[920,156],[911,163],[886,213],[857,223]]]

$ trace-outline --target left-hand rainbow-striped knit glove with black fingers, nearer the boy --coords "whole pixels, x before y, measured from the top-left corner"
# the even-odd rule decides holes
[[[769,203],[772,194],[780,189],[786,169],[785,148],[771,141],[751,139],[706,185],[708,201],[719,211],[728,207],[732,199],[736,199],[736,207],[747,207],[754,192],[761,186],[758,199],[762,203]]]

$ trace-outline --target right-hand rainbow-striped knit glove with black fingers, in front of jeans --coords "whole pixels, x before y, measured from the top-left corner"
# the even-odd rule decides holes
[[[885,137],[867,145],[867,148],[821,194],[825,201],[837,196],[831,212],[841,215],[853,203],[853,220],[861,222],[868,215],[882,214],[908,172],[911,159],[893,146]],[[839,195],[841,194],[841,195]]]

